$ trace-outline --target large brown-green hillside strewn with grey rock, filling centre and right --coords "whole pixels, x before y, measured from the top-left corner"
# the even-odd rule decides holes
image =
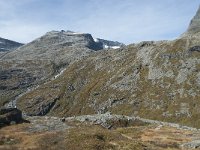
[[[198,10],[194,18],[198,18]],[[196,21],[195,24],[199,22]],[[22,96],[28,115],[136,115],[200,127],[200,34],[91,53]]]

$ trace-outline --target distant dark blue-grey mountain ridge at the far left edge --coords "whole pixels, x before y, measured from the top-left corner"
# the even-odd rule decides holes
[[[22,43],[0,38],[0,52],[14,50],[22,45]]]

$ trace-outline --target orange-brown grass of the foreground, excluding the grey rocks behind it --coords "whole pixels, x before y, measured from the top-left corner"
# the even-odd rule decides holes
[[[33,124],[4,127],[0,129],[0,149],[177,150],[181,149],[181,144],[199,136],[196,131],[167,126],[130,126],[107,130],[90,123],[68,124],[73,128],[62,132],[31,132],[30,129],[35,128]]]

